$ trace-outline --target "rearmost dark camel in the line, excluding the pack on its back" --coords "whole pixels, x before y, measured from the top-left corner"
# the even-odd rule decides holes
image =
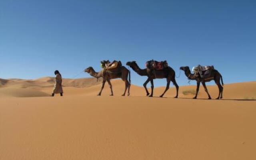
[[[204,90],[205,92],[208,94],[208,99],[212,99],[210,94],[208,93],[208,90],[206,88],[205,82],[210,82],[211,80],[214,80],[215,83],[217,84],[218,88],[219,88],[219,95],[216,99],[222,99],[222,92],[223,92],[223,80],[222,80],[222,76],[220,74],[220,72],[218,72],[218,70],[213,69],[210,73],[210,76],[208,76],[208,78],[201,78],[200,76],[196,76],[195,74],[191,74],[190,69],[188,66],[184,66],[184,67],[180,67],[180,70],[183,70],[185,72],[185,75],[188,77],[189,80],[196,80],[197,82],[197,87],[196,87],[196,96],[194,97],[194,99],[197,98],[197,94],[198,94],[198,90],[200,87],[200,82],[202,83],[202,85],[204,86]],[[220,84],[220,79],[221,79],[221,83]]]

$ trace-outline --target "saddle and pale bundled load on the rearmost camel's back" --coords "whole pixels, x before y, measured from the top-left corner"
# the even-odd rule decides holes
[[[210,78],[212,70],[214,70],[214,66],[200,66],[197,65],[193,67],[193,72],[196,76],[200,76],[201,78]]]

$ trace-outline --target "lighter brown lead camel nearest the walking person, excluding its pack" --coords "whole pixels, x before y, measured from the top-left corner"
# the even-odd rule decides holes
[[[128,96],[130,95],[130,86],[131,86],[131,77],[130,77],[130,71],[124,67],[124,66],[120,66],[118,68],[114,68],[112,70],[101,70],[100,72],[95,72],[95,70],[92,67],[88,67],[84,70],[84,72],[89,73],[91,76],[95,77],[95,78],[103,78],[102,81],[102,86],[100,89],[100,92],[98,93],[97,96],[101,95],[101,92],[105,86],[105,82],[108,82],[108,85],[110,87],[111,90],[111,94],[110,96],[113,96],[113,90],[112,90],[112,84],[110,82],[111,79],[116,79],[116,78],[121,78],[124,83],[125,83],[125,90],[124,90],[124,94],[122,94],[122,96],[125,96],[126,94],[126,90],[128,89]],[[128,80],[128,76],[129,76],[129,80]]]

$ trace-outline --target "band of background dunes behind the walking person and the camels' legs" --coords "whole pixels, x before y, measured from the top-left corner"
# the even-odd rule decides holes
[[[112,80],[112,86],[114,95],[120,96],[124,92],[124,82],[122,80]],[[79,95],[94,96],[98,94],[102,84],[102,79],[98,82],[96,78],[79,78],[79,79],[63,79],[64,92],[66,95]],[[35,80],[22,80],[22,79],[0,79],[0,96],[49,96],[54,86],[54,78],[44,77]],[[218,96],[218,87],[216,85],[207,86],[208,91],[212,98]],[[18,93],[15,93],[17,89]],[[150,91],[150,88],[148,88]],[[165,87],[155,87],[154,96],[159,96],[164,92]],[[195,91],[196,86],[180,86],[179,97],[180,98],[192,98],[193,94],[185,95],[185,91]],[[224,85],[224,99],[256,99],[256,81],[242,82],[234,84]],[[7,94],[4,94],[7,93]],[[12,94],[13,93],[13,94]],[[24,93],[24,94],[23,94]],[[46,94],[43,94],[46,93]],[[145,96],[146,92],[141,86],[131,86],[131,96]],[[110,89],[106,83],[102,92],[102,96],[110,94]],[[176,89],[171,85],[170,90],[166,92],[166,97],[174,97],[176,95]],[[201,86],[198,94],[198,98],[208,98]]]

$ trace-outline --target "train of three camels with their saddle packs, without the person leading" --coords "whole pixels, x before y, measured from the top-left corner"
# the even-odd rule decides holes
[[[145,66],[146,68],[140,68],[136,61],[127,62],[126,65],[132,70],[134,70],[137,74],[140,76],[147,76],[147,80],[144,82],[143,86],[146,90],[146,96],[152,97],[154,92],[154,79],[162,79],[166,78],[167,84],[164,92],[160,95],[160,97],[163,97],[166,91],[170,88],[170,82],[174,84],[176,87],[176,96],[174,98],[178,98],[178,91],[179,86],[176,83],[175,80],[175,71],[168,66],[167,61],[156,61],[156,60],[150,60],[147,61]],[[125,90],[124,94],[122,96],[125,96],[126,91],[128,90],[128,96],[130,95],[130,86],[131,86],[131,76],[130,76],[130,70],[128,70],[125,66],[122,66],[121,61],[114,60],[113,62],[110,62],[109,60],[102,60],[100,62],[100,66],[102,70],[99,72],[96,72],[92,67],[88,67],[84,70],[84,72],[89,73],[91,76],[97,78],[103,78],[102,86],[100,89],[100,92],[98,93],[98,96],[101,95],[102,90],[104,88],[104,85],[106,81],[109,84],[111,94],[110,96],[113,96],[113,90],[112,90],[112,84],[110,82],[111,79],[121,78],[124,81],[125,84]],[[208,90],[206,88],[205,82],[210,82],[212,80],[215,81],[219,88],[219,95],[216,99],[222,98],[222,92],[223,92],[223,80],[221,74],[218,72],[218,70],[214,69],[214,66],[200,66],[197,65],[192,68],[192,71],[194,73],[190,72],[190,68],[188,66],[180,67],[180,70],[183,70],[185,72],[185,75],[188,77],[188,80],[196,80],[197,87],[196,87],[196,96],[194,99],[197,98],[199,86],[200,83],[204,86],[205,92],[208,94],[208,99],[211,99],[210,94],[208,93]],[[221,84],[220,84],[221,80]],[[151,84],[151,93],[148,92],[147,84],[150,82]]]

